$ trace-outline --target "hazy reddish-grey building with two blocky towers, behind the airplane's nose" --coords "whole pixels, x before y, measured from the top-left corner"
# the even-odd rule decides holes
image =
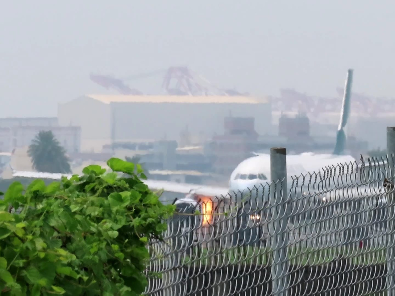
[[[307,116],[291,118],[281,116],[278,135],[258,135],[254,118],[224,118],[224,135],[216,135],[205,145],[208,159],[213,159],[213,171],[229,176],[235,167],[253,152],[270,153],[272,147],[286,147],[289,154],[302,152],[332,153],[336,143],[336,131],[332,136],[310,135]],[[359,155],[367,149],[366,141],[347,138],[347,153]]]

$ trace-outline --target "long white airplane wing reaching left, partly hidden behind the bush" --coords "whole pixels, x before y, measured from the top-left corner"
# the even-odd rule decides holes
[[[53,179],[60,180],[62,176],[70,178],[72,174],[56,174],[48,172],[28,172],[28,171],[13,171],[13,177],[24,177],[24,178],[37,178],[37,179]],[[164,190],[176,193],[188,194],[191,189],[198,195],[207,196],[226,196],[228,194],[228,188],[225,187],[213,187],[196,184],[185,184],[169,181],[158,181],[158,180],[144,180],[144,183],[148,185],[150,189]]]

